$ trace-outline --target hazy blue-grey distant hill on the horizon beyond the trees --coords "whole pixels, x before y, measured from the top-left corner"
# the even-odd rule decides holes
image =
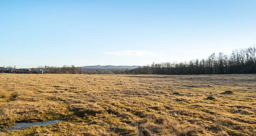
[[[134,68],[138,68],[138,65],[90,65],[90,66],[83,66],[81,68],[85,69],[85,70],[97,70],[97,69],[134,69]]]

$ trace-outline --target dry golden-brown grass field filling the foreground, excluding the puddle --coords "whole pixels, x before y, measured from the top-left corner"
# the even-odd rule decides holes
[[[63,122],[6,130],[55,119]],[[0,74],[0,130],[0,136],[255,136],[256,75]]]

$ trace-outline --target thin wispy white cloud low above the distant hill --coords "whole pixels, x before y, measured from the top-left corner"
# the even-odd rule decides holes
[[[106,52],[105,54],[112,54],[117,56],[134,56],[134,57],[145,57],[145,56],[158,57],[157,54],[151,51],[116,51],[116,52]]]

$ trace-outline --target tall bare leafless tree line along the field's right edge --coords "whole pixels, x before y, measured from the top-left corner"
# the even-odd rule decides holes
[[[232,54],[211,54],[207,59],[193,59],[189,62],[152,63],[126,70],[126,74],[256,74],[256,45],[234,50]]]

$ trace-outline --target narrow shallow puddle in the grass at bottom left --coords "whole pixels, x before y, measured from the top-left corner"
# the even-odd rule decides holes
[[[35,123],[18,123],[11,127],[8,127],[7,130],[21,130],[26,127],[33,127],[33,126],[43,126],[43,125],[53,125],[55,123],[62,122],[62,120],[50,120],[47,122],[35,122]],[[0,130],[1,132],[1,130]]]

